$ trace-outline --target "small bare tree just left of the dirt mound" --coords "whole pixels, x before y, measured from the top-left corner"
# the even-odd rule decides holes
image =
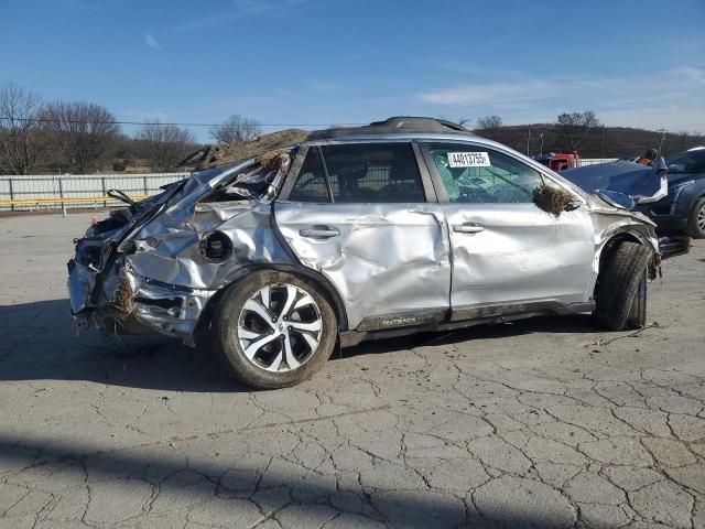
[[[194,138],[187,129],[160,121],[144,123],[137,134],[142,152],[158,171],[170,171],[193,150]]]

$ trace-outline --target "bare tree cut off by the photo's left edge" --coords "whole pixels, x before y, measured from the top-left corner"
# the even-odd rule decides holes
[[[46,143],[36,121],[42,101],[13,83],[0,87],[0,171],[30,174],[43,154]]]

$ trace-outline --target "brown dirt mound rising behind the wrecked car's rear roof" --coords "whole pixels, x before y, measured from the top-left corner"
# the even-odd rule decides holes
[[[311,132],[305,130],[285,129],[260,136],[252,141],[207,145],[187,156],[178,166],[194,168],[196,170],[217,168],[238,160],[259,156],[269,151],[295,145],[306,140],[310,134]]]

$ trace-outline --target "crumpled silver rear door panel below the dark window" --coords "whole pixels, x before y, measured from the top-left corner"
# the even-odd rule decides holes
[[[301,263],[336,287],[350,328],[365,319],[449,309],[448,238],[437,204],[280,202],[275,218]],[[315,227],[339,235],[307,235]]]

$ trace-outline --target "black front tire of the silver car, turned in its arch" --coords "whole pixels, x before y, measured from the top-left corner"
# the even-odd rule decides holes
[[[638,242],[623,241],[615,249],[595,289],[593,319],[597,325],[621,331],[629,325],[646,324],[646,274],[650,259],[651,252]]]

